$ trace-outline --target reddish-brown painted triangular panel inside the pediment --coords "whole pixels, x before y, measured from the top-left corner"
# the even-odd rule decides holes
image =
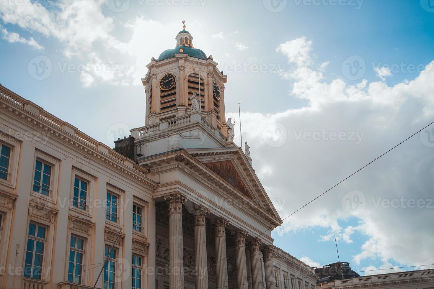
[[[210,168],[231,186],[240,191],[243,195],[253,199],[252,194],[250,194],[249,190],[247,189],[247,185],[243,182],[243,179],[230,160],[221,162],[207,162],[204,165]]]

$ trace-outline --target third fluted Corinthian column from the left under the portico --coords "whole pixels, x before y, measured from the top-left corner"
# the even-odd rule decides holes
[[[217,288],[228,288],[226,260],[226,226],[229,221],[218,218],[214,221],[216,232],[216,277]]]

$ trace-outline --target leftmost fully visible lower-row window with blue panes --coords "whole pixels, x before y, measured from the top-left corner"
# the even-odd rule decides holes
[[[26,260],[24,263],[24,277],[41,279],[44,250],[46,244],[46,228],[30,223],[27,237]]]

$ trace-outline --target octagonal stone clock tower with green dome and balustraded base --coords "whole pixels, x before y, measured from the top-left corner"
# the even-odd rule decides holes
[[[183,21],[184,23],[184,21]],[[131,130],[135,159],[173,149],[226,148],[233,143],[233,123],[225,119],[227,75],[211,55],[194,48],[184,29],[176,44],[146,65],[146,125]],[[127,140],[119,140],[123,146]]]

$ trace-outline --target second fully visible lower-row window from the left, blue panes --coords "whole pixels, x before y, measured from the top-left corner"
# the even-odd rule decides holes
[[[68,282],[82,283],[84,239],[71,236],[69,242]]]

